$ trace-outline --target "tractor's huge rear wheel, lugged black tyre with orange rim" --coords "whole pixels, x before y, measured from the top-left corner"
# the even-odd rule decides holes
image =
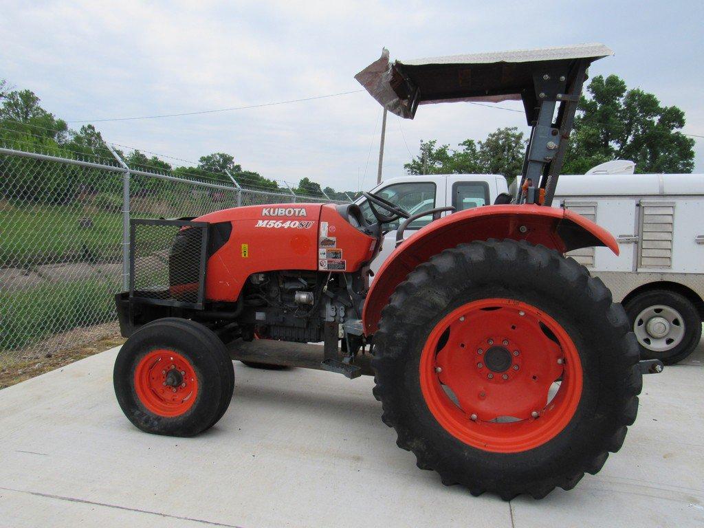
[[[544,246],[477,241],[432,257],[396,288],[374,340],[375,396],[398,446],[473,495],[572,489],[636,418],[623,308]]]

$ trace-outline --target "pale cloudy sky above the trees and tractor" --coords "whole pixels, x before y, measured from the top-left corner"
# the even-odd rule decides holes
[[[382,108],[366,92],[239,111],[99,122],[305,99],[360,89],[379,57],[418,57],[601,42],[620,75],[686,115],[704,136],[704,1],[10,1],[0,0],[0,78],[32,89],[108,142],[197,161],[231,153],[246,170],[339,190],[376,180]],[[520,103],[501,106],[521,108]],[[467,103],[389,114],[384,178],[404,174],[422,139],[456,146],[520,113]],[[704,139],[696,139],[704,172]],[[166,158],[167,161],[173,161]]]

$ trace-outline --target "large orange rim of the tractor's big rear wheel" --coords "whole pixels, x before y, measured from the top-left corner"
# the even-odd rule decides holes
[[[507,298],[467,303],[430,332],[420,358],[428,409],[472,447],[518,453],[555,438],[582,396],[582,363],[562,326]]]

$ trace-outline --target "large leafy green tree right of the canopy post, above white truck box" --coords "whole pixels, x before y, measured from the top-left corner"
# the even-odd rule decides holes
[[[629,159],[636,172],[691,172],[694,140],[680,132],[684,112],[654,94],[627,90],[617,75],[597,75],[582,96],[562,172],[583,174],[612,159]]]

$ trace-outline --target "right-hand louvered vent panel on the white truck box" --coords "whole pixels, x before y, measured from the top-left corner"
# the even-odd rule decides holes
[[[674,203],[641,201],[639,268],[672,268]]]

